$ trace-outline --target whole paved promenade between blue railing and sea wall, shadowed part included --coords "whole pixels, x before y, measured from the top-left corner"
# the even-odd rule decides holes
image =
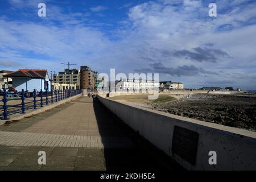
[[[104,106],[81,97],[0,126],[0,170],[166,169],[129,132]],[[38,164],[39,151],[46,165]]]

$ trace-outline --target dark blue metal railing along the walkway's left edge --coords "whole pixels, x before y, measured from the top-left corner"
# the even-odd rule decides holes
[[[9,115],[24,114],[28,109],[37,109],[37,107],[53,104],[80,93],[81,90],[51,90],[46,92],[40,90],[38,92],[35,89],[33,92],[27,92],[22,89],[22,92],[10,93],[3,89],[3,98],[0,100],[0,118],[7,120]],[[17,103],[9,105],[10,101],[16,101]]]

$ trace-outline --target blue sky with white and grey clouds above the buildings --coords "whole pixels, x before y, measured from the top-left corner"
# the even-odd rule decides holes
[[[0,1],[0,70],[59,72],[68,61],[100,73],[159,73],[185,88],[256,90],[256,1]]]

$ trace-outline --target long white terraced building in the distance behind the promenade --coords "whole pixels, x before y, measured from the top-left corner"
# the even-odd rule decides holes
[[[159,82],[154,80],[121,79],[115,82],[115,90],[155,90],[159,88]]]

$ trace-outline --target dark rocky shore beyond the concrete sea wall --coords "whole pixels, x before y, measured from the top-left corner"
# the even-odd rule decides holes
[[[154,107],[200,121],[256,131],[255,95],[190,94]]]

